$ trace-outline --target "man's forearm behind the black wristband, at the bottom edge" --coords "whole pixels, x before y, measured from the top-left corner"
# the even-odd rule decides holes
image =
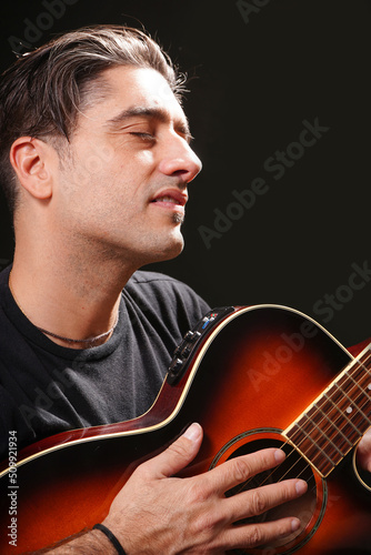
[[[83,531],[66,538],[54,547],[37,552],[38,555],[117,555],[111,542],[99,529]]]

